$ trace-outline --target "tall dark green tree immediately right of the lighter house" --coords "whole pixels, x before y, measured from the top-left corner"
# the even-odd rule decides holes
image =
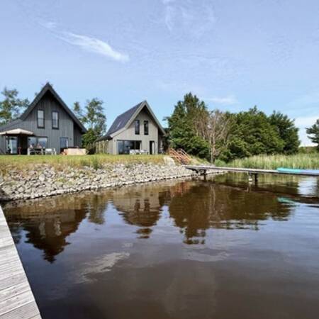
[[[203,101],[191,93],[184,96],[184,101],[178,101],[172,116],[167,118],[169,127],[169,145],[182,148],[191,155],[209,157],[209,145],[196,131],[196,118],[207,113]]]

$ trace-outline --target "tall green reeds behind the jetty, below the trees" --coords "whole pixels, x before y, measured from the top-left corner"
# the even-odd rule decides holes
[[[244,167],[259,169],[277,169],[287,167],[293,169],[319,169],[319,153],[296,155],[258,155],[243,159],[235,159],[228,164],[217,162],[216,166]]]

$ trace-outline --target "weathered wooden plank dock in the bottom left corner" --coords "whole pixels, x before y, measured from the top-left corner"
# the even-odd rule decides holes
[[[0,206],[0,318],[41,318]]]

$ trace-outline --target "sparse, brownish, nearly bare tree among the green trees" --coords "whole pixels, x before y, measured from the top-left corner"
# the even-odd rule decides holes
[[[211,162],[225,151],[230,133],[230,116],[219,110],[202,112],[195,121],[196,131],[210,146]]]

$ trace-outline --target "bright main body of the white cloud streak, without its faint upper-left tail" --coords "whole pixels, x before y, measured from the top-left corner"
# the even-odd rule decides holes
[[[58,38],[69,44],[81,47],[83,50],[111,57],[111,59],[119,62],[128,62],[130,60],[130,57],[127,54],[113,49],[111,45],[97,38],[72,32],[63,32]]]

